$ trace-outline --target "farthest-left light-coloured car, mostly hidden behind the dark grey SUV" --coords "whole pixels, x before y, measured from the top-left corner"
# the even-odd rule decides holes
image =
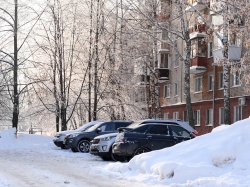
[[[81,127],[77,128],[75,130],[57,132],[56,135],[55,135],[55,138],[53,139],[53,142],[57,147],[61,147],[62,149],[66,149],[66,146],[63,143],[66,135],[72,134],[72,133],[75,133],[75,132],[83,132],[86,129],[88,129],[88,128],[92,127],[93,125],[95,125],[97,123],[100,123],[100,122],[101,121],[91,121],[89,123],[86,123],[86,124],[82,125]]]

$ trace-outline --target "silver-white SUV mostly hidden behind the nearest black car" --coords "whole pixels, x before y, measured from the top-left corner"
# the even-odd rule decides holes
[[[167,123],[173,122],[176,125],[180,125],[184,127],[186,130],[193,134],[197,134],[197,131],[195,131],[187,122],[184,121],[176,121],[176,120],[155,120],[155,119],[146,119],[141,120],[132,123],[128,127],[119,128],[118,130],[120,132],[123,132],[123,130],[131,130],[134,129],[142,124],[146,123]],[[112,133],[112,134],[105,134],[101,136],[95,137],[91,141],[90,146],[90,153],[93,155],[100,156],[103,160],[114,160],[114,161],[124,161],[123,156],[119,156],[116,154],[113,154],[112,152],[112,145],[115,143],[115,139],[118,133]]]

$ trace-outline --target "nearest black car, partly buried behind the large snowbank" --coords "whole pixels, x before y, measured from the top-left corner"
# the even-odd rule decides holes
[[[132,158],[143,152],[163,149],[194,138],[176,123],[147,123],[119,132],[112,146],[113,154]]]

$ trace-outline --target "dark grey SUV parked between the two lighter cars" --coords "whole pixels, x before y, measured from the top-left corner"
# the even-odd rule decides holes
[[[84,132],[69,134],[65,137],[65,146],[71,148],[73,152],[88,153],[90,148],[90,141],[94,137],[117,132],[120,127],[126,127],[133,123],[133,121],[115,120],[108,122],[100,122],[90,127]]]

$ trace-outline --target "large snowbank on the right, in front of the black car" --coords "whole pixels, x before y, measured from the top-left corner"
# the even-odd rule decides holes
[[[219,186],[250,186],[249,133],[250,118],[219,126],[173,147],[135,156],[128,163],[111,163],[106,169],[130,176],[143,173],[164,184],[211,186],[209,182],[215,180]]]

